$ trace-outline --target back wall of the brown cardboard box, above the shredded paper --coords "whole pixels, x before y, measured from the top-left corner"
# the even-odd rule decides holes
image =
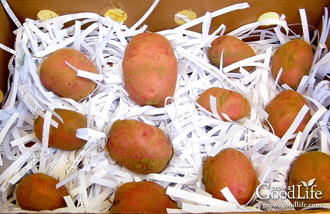
[[[123,5],[128,14],[126,22],[128,26],[132,26],[141,18],[153,3],[153,0],[117,1]],[[330,4],[330,0],[160,0],[143,24],[148,25],[148,31],[161,31],[176,27],[177,24],[173,21],[174,15],[183,9],[191,9],[197,14],[197,17],[201,17],[208,11],[213,12],[243,2],[248,2],[250,8],[214,18],[211,31],[224,23],[227,26],[227,32],[230,32],[243,24],[256,21],[261,14],[269,11],[284,14],[288,23],[300,23],[299,8],[306,9],[309,24],[316,27],[324,14],[324,7]],[[100,14],[104,8],[110,5],[108,0],[57,0],[56,4],[47,0],[8,0],[8,4],[22,23],[25,18],[35,19],[37,12],[42,9],[50,9],[60,15],[79,12]],[[194,27],[192,30],[200,32],[200,27]]]

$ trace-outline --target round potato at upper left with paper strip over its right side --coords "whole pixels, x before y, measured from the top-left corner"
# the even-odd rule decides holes
[[[90,79],[77,76],[76,69],[98,73],[94,64],[82,52],[63,48],[54,51],[40,66],[40,80],[43,86],[61,97],[75,101],[91,94],[97,84]]]

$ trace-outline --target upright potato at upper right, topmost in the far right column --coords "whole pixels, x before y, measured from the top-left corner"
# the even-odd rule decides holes
[[[287,84],[295,89],[302,77],[308,75],[312,63],[313,50],[311,45],[302,39],[292,39],[281,45],[275,52],[271,72],[276,79],[282,68],[279,84]]]

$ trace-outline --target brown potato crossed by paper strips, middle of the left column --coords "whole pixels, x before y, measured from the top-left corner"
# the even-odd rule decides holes
[[[64,150],[75,150],[86,143],[85,140],[77,138],[76,133],[78,128],[87,127],[87,118],[76,111],[55,108],[56,112],[63,119],[64,124],[54,115],[51,118],[58,123],[58,127],[55,128],[50,125],[49,129],[49,147],[55,147]],[[43,132],[44,119],[38,116],[33,124],[33,129],[36,137],[41,142]]]

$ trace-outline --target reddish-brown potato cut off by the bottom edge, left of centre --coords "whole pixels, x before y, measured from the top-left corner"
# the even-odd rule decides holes
[[[153,181],[128,182],[115,192],[110,213],[167,213],[166,208],[178,209],[176,201]]]

